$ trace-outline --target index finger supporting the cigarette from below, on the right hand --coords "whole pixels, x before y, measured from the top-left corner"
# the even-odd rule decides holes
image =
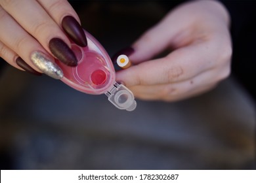
[[[179,48],[165,58],[144,61],[116,73],[116,80],[126,86],[167,84],[181,82],[200,75],[213,67],[211,60],[217,54],[211,53],[207,42],[195,43]]]

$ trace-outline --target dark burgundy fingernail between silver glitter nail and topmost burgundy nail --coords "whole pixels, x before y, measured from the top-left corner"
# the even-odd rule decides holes
[[[53,38],[49,42],[49,48],[53,55],[68,66],[76,66],[77,58],[68,45],[59,38]]]

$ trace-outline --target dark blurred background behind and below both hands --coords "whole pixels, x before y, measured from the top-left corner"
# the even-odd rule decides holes
[[[112,56],[180,2],[70,3]],[[255,169],[255,29],[236,8],[250,3],[226,4],[238,18],[232,75],[184,101],[137,100],[135,111],[118,110],[105,95],[77,92],[1,60],[0,168]]]

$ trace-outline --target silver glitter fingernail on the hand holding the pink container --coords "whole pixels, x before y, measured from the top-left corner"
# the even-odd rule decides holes
[[[63,77],[63,72],[60,67],[58,67],[51,58],[42,52],[33,52],[31,59],[35,66],[45,73],[45,75],[51,76],[54,79],[60,79]]]

